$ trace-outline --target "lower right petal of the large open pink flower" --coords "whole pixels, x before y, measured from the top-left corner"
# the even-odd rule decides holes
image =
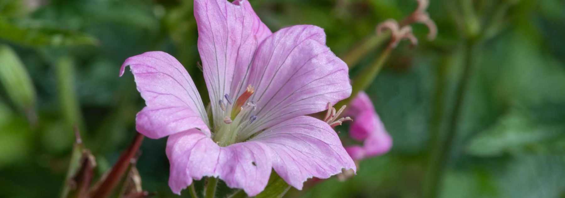
[[[286,183],[302,190],[308,178],[329,178],[342,169],[357,170],[336,132],[325,122],[300,116],[276,124],[248,142],[272,149],[273,168]]]

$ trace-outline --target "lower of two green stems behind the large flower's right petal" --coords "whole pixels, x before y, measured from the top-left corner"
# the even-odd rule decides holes
[[[386,62],[386,59],[388,59],[392,49],[393,49],[392,47],[387,46],[386,49],[383,51],[383,53],[381,53],[379,58],[377,58],[370,66],[366,67],[363,71],[361,71],[361,73],[357,77],[355,77],[355,79],[353,79],[353,84],[351,85],[353,87],[353,90],[351,91],[351,96],[349,98],[346,98],[345,100],[338,102],[334,106],[341,107],[343,105],[349,104],[349,102],[355,96],[357,96],[357,93],[367,89],[367,87],[371,85],[373,80],[375,80],[377,74],[379,74],[379,72],[383,68],[383,65]]]

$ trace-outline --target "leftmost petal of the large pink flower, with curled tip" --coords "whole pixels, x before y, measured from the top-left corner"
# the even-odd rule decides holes
[[[147,105],[137,114],[138,132],[158,139],[199,128],[210,136],[200,94],[179,61],[162,51],[149,51],[126,59],[120,76],[127,66]]]

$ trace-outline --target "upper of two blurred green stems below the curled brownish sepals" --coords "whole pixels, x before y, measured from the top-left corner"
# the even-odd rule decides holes
[[[351,50],[347,51],[344,55],[341,56],[341,59],[347,64],[347,66],[351,69],[357,66],[357,63],[364,57],[369,51],[374,50],[383,42],[387,41],[390,37],[390,33],[382,33],[377,35],[376,33],[363,38],[359,44],[355,45]]]

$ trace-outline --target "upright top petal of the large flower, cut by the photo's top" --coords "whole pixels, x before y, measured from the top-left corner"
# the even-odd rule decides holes
[[[255,49],[271,31],[245,0],[195,0],[194,16],[214,120],[222,120],[218,101],[226,93],[235,100],[245,91]]]

